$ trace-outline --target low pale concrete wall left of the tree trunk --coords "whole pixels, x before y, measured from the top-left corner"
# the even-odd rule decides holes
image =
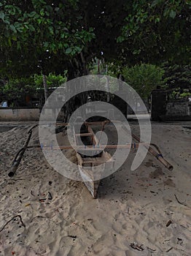
[[[46,110],[46,120],[58,116],[57,109]],[[39,121],[39,108],[0,108],[0,121]],[[63,113],[59,113],[58,120],[63,120]]]

